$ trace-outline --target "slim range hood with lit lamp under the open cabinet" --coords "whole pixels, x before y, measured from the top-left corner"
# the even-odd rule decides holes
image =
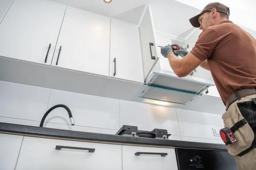
[[[145,78],[145,86],[136,101],[156,105],[185,108],[193,99],[214,85],[210,80],[198,77],[177,77],[168,59],[156,58],[156,63]]]

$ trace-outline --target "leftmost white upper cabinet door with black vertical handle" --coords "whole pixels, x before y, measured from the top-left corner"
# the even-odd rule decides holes
[[[45,63],[49,49],[50,64],[64,12],[43,0],[15,0],[0,24],[0,56]]]

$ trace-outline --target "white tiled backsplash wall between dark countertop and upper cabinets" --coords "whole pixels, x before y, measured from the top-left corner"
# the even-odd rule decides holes
[[[0,94],[0,122],[39,126],[49,108],[64,104],[73,113],[75,125],[70,125],[67,111],[56,108],[47,116],[44,127],[115,134],[122,125],[132,125],[138,130],[166,129],[172,140],[221,143],[213,133],[223,125],[221,115],[217,114],[4,81],[0,81]]]

